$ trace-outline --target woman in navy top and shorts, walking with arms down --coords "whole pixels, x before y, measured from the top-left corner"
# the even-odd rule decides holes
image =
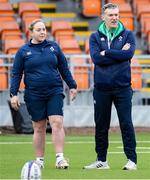
[[[67,61],[58,44],[46,40],[46,27],[42,20],[33,21],[29,27],[31,40],[15,56],[10,87],[11,106],[19,108],[17,92],[24,73],[24,100],[32,117],[33,144],[36,161],[44,167],[46,121],[52,128],[52,141],[56,151],[56,168],[66,169],[63,156],[63,81],[70,89],[71,98],[77,94],[77,85],[68,69]]]

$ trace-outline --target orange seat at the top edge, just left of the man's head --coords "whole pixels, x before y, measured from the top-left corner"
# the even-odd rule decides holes
[[[97,17],[101,14],[100,0],[82,0],[82,14],[85,17]]]

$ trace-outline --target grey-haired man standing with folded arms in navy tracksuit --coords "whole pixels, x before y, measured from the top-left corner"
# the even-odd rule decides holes
[[[136,170],[136,140],[131,118],[132,89],[130,60],[135,51],[133,33],[119,21],[119,8],[103,7],[102,22],[90,37],[90,55],[94,69],[94,119],[96,162],[85,169],[109,169],[107,163],[108,131],[111,108],[117,110],[124,152],[128,159],[124,170]]]

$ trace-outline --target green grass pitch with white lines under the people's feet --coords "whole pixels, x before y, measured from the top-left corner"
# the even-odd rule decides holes
[[[42,179],[150,179],[150,134],[137,133],[138,170],[123,171],[126,163],[121,135],[110,133],[108,150],[109,170],[85,170],[84,165],[94,162],[93,136],[66,136],[65,156],[68,170],[55,169],[55,153],[50,135],[46,138],[45,168]],[[21,168],[34,159],[32,135],[0,135],[0,179],[20,179]]]

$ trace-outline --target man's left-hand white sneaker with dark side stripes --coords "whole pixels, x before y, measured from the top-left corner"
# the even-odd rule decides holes
[[[83,169],[109,169],[107,161],[96,161],[90,165],[84,166]]]

